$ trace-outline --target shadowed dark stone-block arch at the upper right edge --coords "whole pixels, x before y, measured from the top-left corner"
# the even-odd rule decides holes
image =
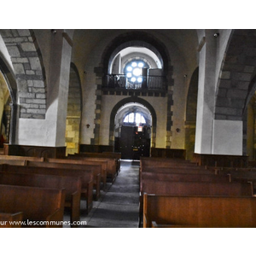
[[[255,30],[231,32],[218,76],[215,119],[243,119],[247,103],[256,89],[255,41]]]

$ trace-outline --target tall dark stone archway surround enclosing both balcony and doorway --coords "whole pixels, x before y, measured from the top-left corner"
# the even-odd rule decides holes
[[[106,47],[102,53],[102,61],[99,67],[95,67],[96,81],[100,81],[96,84],[96,109],[102,108],[102,83],[105,75],[108,74],[110,63],[116,53],[121,49],[125,49],[128,46],[139,46],[146,47],[154,52],[155,55],[159,57],[162,61],[163,75],[166,77],[166,96],[167,96],[167,115],[166,115],[166,133],[168,134],[169,141],[166,141],[166,148],[171,148],[171,129],[172,129],[172,105],[173,105],[173,88],[174,80],[172,79],[172,65],[171,59],[167,53],[166,46],[162,44],[159,38],[155,38],[154,35],[148,34],[147,32],[135,31],[126,32],[114,38],[110,44]],[[103,79],[102,79],[103,78]],[[131,92],[131,96],[139,96],[137,93]],[[160,95],[160,94],[158,94]],[[145,95],[144,95],[145,96]],[[147,96],[147,95],[146,95]],[[153,95],[150,95],[153,96]],[[96,113],[95,119],[95,130],[94,138],[91,139],[91,143],[99,143],[99,134],[101,129],[101,113]],[[110,130],[110,134],[113,134]],[[153,132],[154,135],[154,132]],[[153,139],[154,142],[154,139]],[[113,138],[110,139],[110,143],[113,144]],[[152,144],[152,146],[154,143]]]

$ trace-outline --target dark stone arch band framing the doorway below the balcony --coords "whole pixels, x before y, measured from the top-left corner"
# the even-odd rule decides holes
[[[148,108],[148,111],[151,113],[152,116],[152,136],[154,138],[154,135],[156,133],[156,113],[154,108],[152,107],[151,104],[149,104],[147,101],[143,100],[142,98],[139,98],[137,96],[131,96],[129,98],[125,98],[121,101],[119,101],[112,109],[111,113],[110,113],[110,122],[109,122],[109,145],[113,146],[114,144],[114,119],[115,119],[115,115],[118,112],[119,108],[121,108],[122,106],[124,106],[127,103],[132,103],[132,102],[137,102],[142,104],[143,106],[145,106],[146,108]],[[154,140],[151,142],[152,147],[154,146]]]

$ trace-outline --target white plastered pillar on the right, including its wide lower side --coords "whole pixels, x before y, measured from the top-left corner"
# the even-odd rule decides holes
[[[217,43],[212,31],[207,31],[204,42],[199,54],[195,153],[242,155],[242,120],[214,117]],[[230,79],[230,73],[222,73],[221,79]]]

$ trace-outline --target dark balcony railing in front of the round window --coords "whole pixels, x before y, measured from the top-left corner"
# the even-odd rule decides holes
[[[166,77],[140,76],[139,82],[132,82],[125,74],[108,74],[103,79],[104,88],[122,88],[127,90],[166,90]]]

